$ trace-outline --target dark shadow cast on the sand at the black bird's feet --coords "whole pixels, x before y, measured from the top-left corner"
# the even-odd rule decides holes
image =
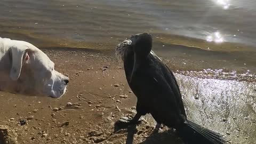
[[[124,128],[124,127],[122,127]],[[115,131],[118,131],[115,127]],[[127,127],[127,138],[126,144],[136,144],[133,143],[134,134],[137,133],[136,125],[130,125]],[[146,140],[140,142],[139,144],[183,144],[182,140],[178,137],[177,133],[173,130],[166,130],[164,132],[155,133],[149,135]]]

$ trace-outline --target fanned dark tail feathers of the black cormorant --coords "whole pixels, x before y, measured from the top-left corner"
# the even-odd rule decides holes
[[[189,144],[195,143],[209,143],[209,144],[222,144],[226,141],[222,136],[216,132],[205,129],[204,127],[195,124],[191,121],[179,130],[180,136]]]

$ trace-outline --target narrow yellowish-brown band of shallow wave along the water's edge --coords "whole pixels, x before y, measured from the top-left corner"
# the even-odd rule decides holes
[[[19,29],[19,28],[10,28],[2,25],[2,29],[0,30],[1,37],[7,37],[11,39],[17,39],[20,41],[27,41],[38,47],[70,47],[70,48],[91,48],[91,49],[115,49],[115,46],[122,42],[125,38],[133,35],[133,34],[122,34],[116,36],[103,36],[98,37],[97,39],[101,39],[101,41],[83,41],[82,39],[72,39],[72,38],[64,38],[53,36],[53,38],[49,38],[47,35],[41,35],[35,33],[35,31],[31,31],[28,29]],[[5,28],[6,27],[6,28]],[[138,33],[142,33],[138,31]],[[170,45],[180,45],[185,47],[194,47],[197,49],[207,50],[207,51],[223,51],[223,52],[233,52],[233,51],[253,51],[256,52],[256,46],[252,46],[249,44],[242,43],[231,43],[231,42],[207,42],[205,39],[188,37],[182,35],[175,34],[167,34],[163,33],[163,31],[148,31],[145,33],[153,34],[153,43],[163,43]],[[95,39],[95,38],[94,38]]]

